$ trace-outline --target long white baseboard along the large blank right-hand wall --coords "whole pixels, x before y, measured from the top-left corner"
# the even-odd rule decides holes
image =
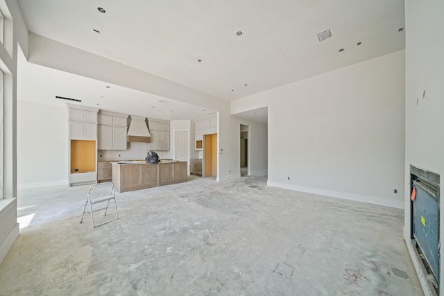
[[[404,209],[404,201],[398,200],[386,200],[384,198],[375,198],[373,196],[368,195],[359,195],[353,193],[344,193],[338,191],[330,191],[324,189],[317,189],[305,186],[298,186],[293,184],[283,184],[279,182],[267,182],[267,186],[278,187],[283,189],[290,189],[294,191],[302,191],[307,193],[314,193],[318,195],[330,196],[332,198],[341,198],[343,200],[354,200],[356,202],[366,202],[368,204],[378,204],[385,207],[394,207],[397,209]]]

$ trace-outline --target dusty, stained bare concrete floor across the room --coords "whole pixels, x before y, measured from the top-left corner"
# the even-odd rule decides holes
[[[400,209],[191,176],[117,193],[119,220],[93,229],[88,187],[19,191],[33,220],[0,295],[422,295]]]

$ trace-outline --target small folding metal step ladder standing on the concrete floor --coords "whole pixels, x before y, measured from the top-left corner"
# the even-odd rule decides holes
[[[98,195],[96,193],[96,191],[98,190],[93,190],[93,189],[103,189],[103,191],[106,189],[106,187],[110,186],[111,190],[110,193],[108,195],[105,195],[98,198],[94,198],[94,200],[92,199],[92,195]],[[103,188],[100,188],[103,187]],[[107,220],[104,223],[101,223],[99,225],[94,225],[94,212],[96,211],[103,211],[105,210],[105,212],[103,213],[103,216],[106,216],[106,212],[108,211],[108,207],[110,207],[110,201],[114,200],[114,208],[116,210],[116,215],[114,216],[114,218],[112,218],[112,220]],[[93,207],[94,204],[105,204],[106,202],[106,206],[104,207]],[[80,223],[83,223],[83,218],[85,217],[85,214],[87,214],[87,205],[89,204],[89,214],[91,214],[91,223],[92,223],[92,227],[99,227],[103,224],[106,223],[110,223],[114,220],[119,219],[119,214],[117,214],[117,202],[116,202],[116,196],[114,195],[114,183],[113,182],[105,182],[105,183],[99,183],[99,184],[94,184],[92,186],[89,187],[88,189],[88,193],[86,195],[86,201],[85,201],[85,207],[83,208],[83,214],[82,214],[82,219],[80,220]]]

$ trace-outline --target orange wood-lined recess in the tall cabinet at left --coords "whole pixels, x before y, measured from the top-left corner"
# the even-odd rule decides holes
[[[71,172],[96,171],[96,141],[71,140]]]

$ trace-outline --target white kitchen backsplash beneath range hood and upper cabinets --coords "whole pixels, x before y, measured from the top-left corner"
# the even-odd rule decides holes
[[[145,159],[149,150],[149,143],[128,143],[128,150],[99,150],[97,151],[97,160],[135,160]],[[172,159],[173,152],[155,151],[160,159]]]

